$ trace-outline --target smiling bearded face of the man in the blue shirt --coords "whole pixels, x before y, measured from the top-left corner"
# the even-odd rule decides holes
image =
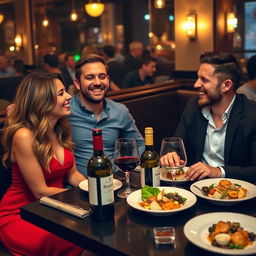
[[[87,63],[81,67],[81,71],[80,81],[75,80],[80,96],[85,102],[101,103],[109,88],[109,77],[105,65],[101,62]]]

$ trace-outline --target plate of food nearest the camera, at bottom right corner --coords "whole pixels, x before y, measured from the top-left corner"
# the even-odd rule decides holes
[[[240,213],[216,212],[196,216],[184,226],[187,239],[220,254],[256,254],[256,218]]]

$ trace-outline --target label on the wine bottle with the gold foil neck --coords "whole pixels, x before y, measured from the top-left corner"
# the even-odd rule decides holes
[[[160,186],[160,168],[141,168],[141,187],[148,185],[153,187]]]

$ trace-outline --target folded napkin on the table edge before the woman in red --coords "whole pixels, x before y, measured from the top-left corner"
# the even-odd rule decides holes
[[[42,197],[40,199],[40,203],[51,206],[53,208],[56,208],[60,211],[69,213],[69,214],[74,215],[79,218],[85,218],[86,216],[88,216],[90,214],[89,210],[85,210],[85,209],[81,208],[80,206],[63,203],[61,201],[52,199],[47,196]]]

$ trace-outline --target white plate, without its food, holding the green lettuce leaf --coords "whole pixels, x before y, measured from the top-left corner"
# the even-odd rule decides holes
[[[158,216],[171,215],[171,214],[174,214],[176,212],[184,211],[184,210],[192,207],[196,203],[196,196],[193,193],[191,193],[190,191],[187,191],[185,189],[175,188],[175,187],[158,187],[158,188],[160,190],[164,189],[164,191],[166,193],[177,192],[180,196],[187,198],[184,206],[182,206],[178,209],[168,210],[168,211],[164,211],[164,210],[154,211],[154,210],[145,209],[145,208],[143,208],[142,206],[140,206],[138,204],[139,202],[142,201],[142,199],[141,199],[141,189],[132,192],[127,197],[127,203],[134,209],[137,209],[139,211],[143,211],[143,212],[148,213],[148,214],[158,215]]]

